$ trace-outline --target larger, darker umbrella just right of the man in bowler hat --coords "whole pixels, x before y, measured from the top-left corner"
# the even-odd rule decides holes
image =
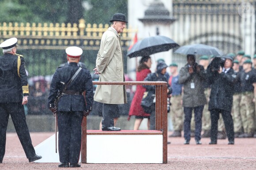
[[[127,56],[130,58],[146,56],[162,51],[169,51],[175,47],[179,47],[179,45],[166,36],[151,36],[134,44],[131,50],[128,51]]]

